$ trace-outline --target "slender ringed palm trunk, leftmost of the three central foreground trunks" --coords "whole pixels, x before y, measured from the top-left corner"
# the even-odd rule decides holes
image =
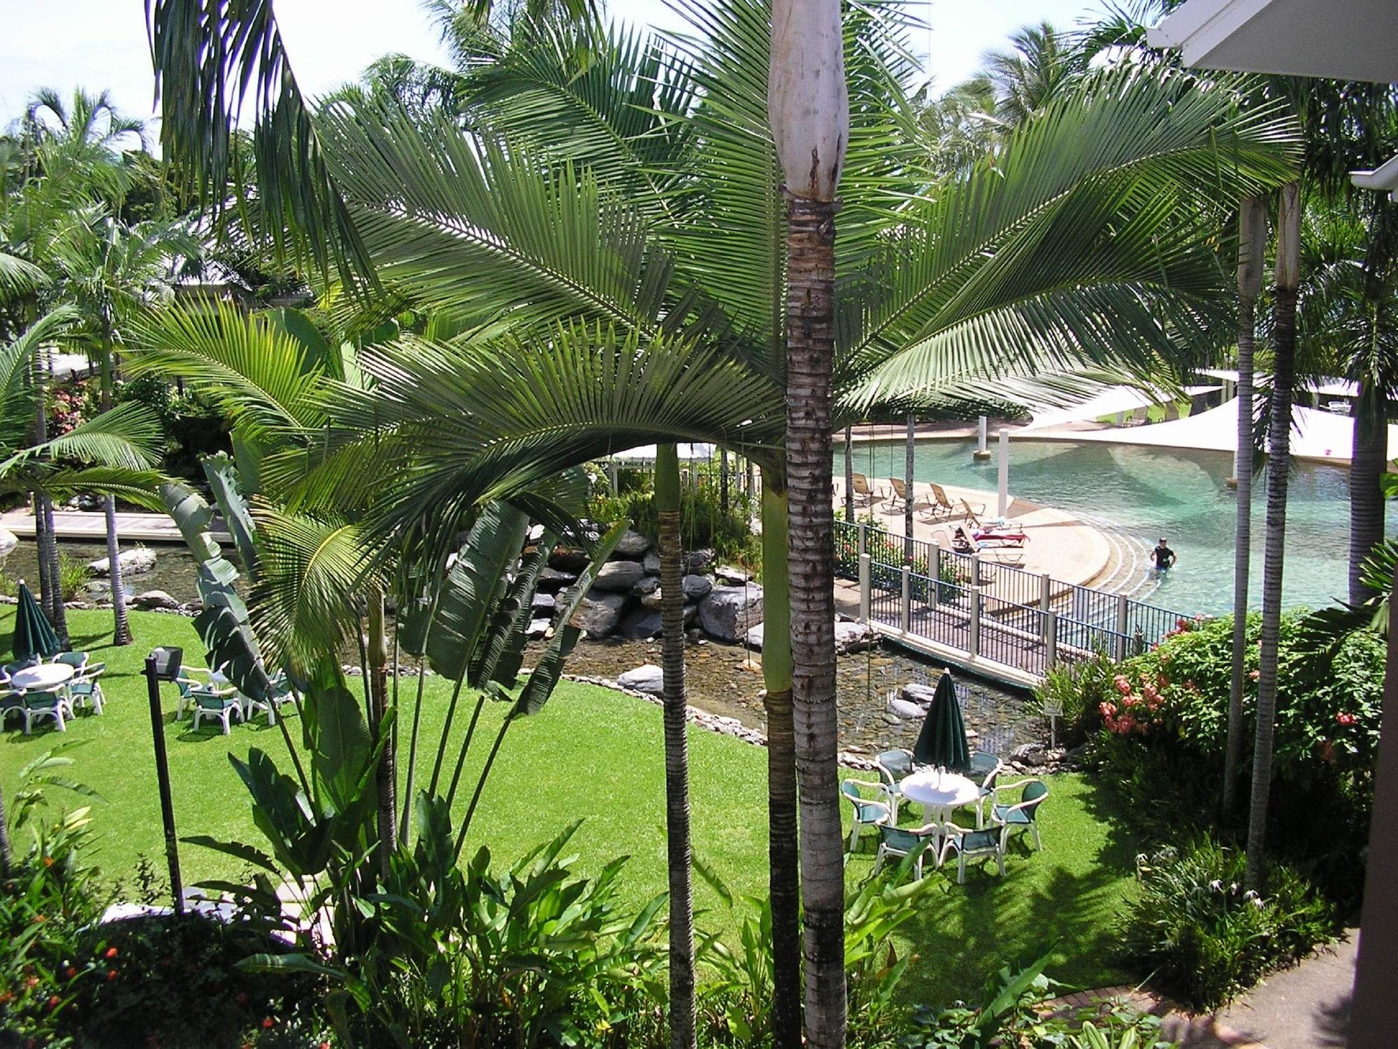
[[[721,453],[727,459],[727,452]],[[724,490],[728,473],[723,471]],[[727,505],[727,491],[724,491]],[[665,845],[670,864],[670,1046],[695,1045],[695,915],[689,845],[689,741],[685,725],[685,593],[679,545],[679,457],[656,449],[660,524],[660,621],[665,723]]]

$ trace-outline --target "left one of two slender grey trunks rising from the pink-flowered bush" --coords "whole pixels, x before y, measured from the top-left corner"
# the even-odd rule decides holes
[[[1253,351],[1257,345],[1257,297],[1262,291],[1267,210],[1248,197],[1239,210],[1237,243],[1237,519],[1233,526],[1233,677],[1227,698],[1227,744],[1223,751],[1223,818],[1237,804],[1237,766],[1243,751],[1243,656],[1247,650],[1247,578],[1253,555]]]

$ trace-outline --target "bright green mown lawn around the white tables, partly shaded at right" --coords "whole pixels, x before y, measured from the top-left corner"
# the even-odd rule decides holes
[[[0,606],[0,653],[8,656],[14,622],[13,606]],[[0,740],[0,786],[11,793],[20,769],[63,740],[85,740],[71,754],[73,779],[89,783],[103,800],[94,803],[92,825],[98,834],[96,862],[109,880],[130,878],[137,857],[145,856],[164,874],[159,801],[151,757],[151,727],[144,656],[157,645],[179,645],[186,659],[201,645],[187,618],[157,613],[131,613],[136,643],[109,646],[110,611],[69,613],[73,646],[103,660],[102,677],[108,708],[102,718],[82,715],[60,736],[36,729],[25,737],[17,723]],[[199,660],[201,663],[201,660]],[[358,688],[358,678],[351,678]],[[179,834],[207,834],[261,846],[253,828],[247,796],[228,754],[246,757],[252,747],[266,750],[289,765],[281,732],[263,719],[233,726],[231,736],[218,727],[189,730],[187,719],[173,720],[175,687],[165,685],[165,726]],[[400,771],[407,757],[407,725],[415,678],[404,678],[404,730]],[[435,747],[449,699],[449,684],[428,678],[422,713],[422,738]],[[463,694],[453,729],[453,743],[464,733],[470,715]],[[474,697],[473,697],[474,701]],[[477,729],[477,744],[467,758],[456,801],[460,818],[470,800],[480,765],[499,727],[503,708],[487,705]],[[295,718],[289,727],[299,738]],[[447,765],[454,761],[450,751]],[[418,786],[431,773],[433,751],[419,758]],[[759,747],[691,729],[691,803],[695,852],[735,895],[766,895],[766,754]],[[405,772],[405,771],[404,771]],[[856,773],[864,778],[867,773]],[[937,874],[938,888],[907,930],[909,948],[918,961],[910,966],[906,990],[911,999],[948,1004],[974,1000],[986,979],[1007,962],[1028,962],[1058,941],[1050,975],[1074,986],[1118,983],[1127,975],[1113,964],[1116,922],[1123,895],[1132,891],[1137,843],[1114,818],[1110,797],[1078,775],[1050,780],[1051,796],[1042,808],[1043,853],[1029,855],[1028,842],[1012,842],[1007,877],[994,867],[967,871],[966,885]],[[55,800],[77,807],[84,799]],[[846,811],[846,818],[849,813]],[[576,870],[591,874],[614,856],[629,855],[622,891],[639,909],[665,888],[664,754],[660,708],[593,685],[562,683],[542,713],[517,722],[506,734],[495,769],[475,814],[466,855],[485,845],[496,863],[509,863],[540,841],[583,820],[569,852]],[[905,822],[911,822],[911,814]],[[849,824],[846,824],[846,828]],[[872,866],[874,835],[867,832],[850,859],[850,880]],[[18,849],[28,842],[15,842]],[[190,845],[180,849],[186,884],[201,878],[235,877],[239,864],[219,853]],[[129,890],[129,892],[133,890]],[[731,929],[735,918],[714,892],[695,880],[695,906],[700,929]],[[740,905],[741,906],[741,905]]]

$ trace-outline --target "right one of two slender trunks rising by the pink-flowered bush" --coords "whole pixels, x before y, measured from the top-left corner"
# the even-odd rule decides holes
[[[1300,284],[1300,200],[1295,182],[1282,186],[1276,221],[1276,288],[1272,298],[1272,414],[1267,459],[1267,548],[1262,561],[1262,645],[1257,678],[1257,738],[1247,821],[1247,888],[1265,883],[1267,808],[1272,790],[1276,722],[1276,649],[1282,624],[1286,543],[1286,483],[1290,473],[1292,383],[1296,378],[1296,290]]]

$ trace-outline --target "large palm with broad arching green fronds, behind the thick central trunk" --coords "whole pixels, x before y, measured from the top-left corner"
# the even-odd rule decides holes
[[[257,175],[271,180],[263,197],[288,214],[288,193],[306,199],[285,243],[309,236],[308,257],[319,252],[331,267],[337,255],[358,257],[341,267],[351,278],[376,267],[410,301],[454,317],[438,341],[370,352],[373,397],[350,396],[336,420],[352,429],[355,413],[373,417],[377,446],[391,434],[411,449],[411,471],[384,473],[397,480],[376,505],[376,527],[405,530],[426,506],[485,498],[502,471],[537,480],[622,441],[714,441],[761,464],[773,940],[791,1043],[787,207],[761,76],[770,20],[758,0],[689,14],[703,42],[678,53],[593,25],[575,31],[576,49],[524,49],[516,32],[517,60],[489,70],[492,94],[473,116],[473,126],[520,129],[510,148],[376,105],[312,120],[298,97],[259,134],[296,131],[308,150],[298,155],[319,173],[292,178],[295,161]],[[179,29],[187,35],[168,35]],[[190,87],[165,99],[166,154],[193,161],[222,200],[217,150],[200,129],[226,113],[203,99],[219,97],[210,80],[232,77],[245,56],[206,67],[194,56],[207,25],[172,21],[162,32],[162,77]],[[259,46],[268,32],[259,27]],[[1127,70],[1050,104],[1007,143],[1012,162],[977,166],[944,192],[945,172],[916,147],[896,32],[861,10],[844,38],[860,104],[836,257],[850,281],[835,304],[832,425],[909,392],[930,404],[983,396],[991,383],[1009,396],[1081,393],[1071,376],[1085,366],[1159,369],[1162,352],[1223,316],[1206,238],[1180,206],[1216,194],[1216,141],[1233,148],[1232,192],[1282,180],[1288,130],[1275,112],[1239,113],[1226,85],[1181,92],[1169,76]],[[580,56],[586,77],[566,66]],[[274,98],[294,87],[282,63],[278,43]],[[506,110],[510,120],[481,119]],[[341,227],[345,236],[312,243]],[[828,481],[829,456],[823,470]]]

